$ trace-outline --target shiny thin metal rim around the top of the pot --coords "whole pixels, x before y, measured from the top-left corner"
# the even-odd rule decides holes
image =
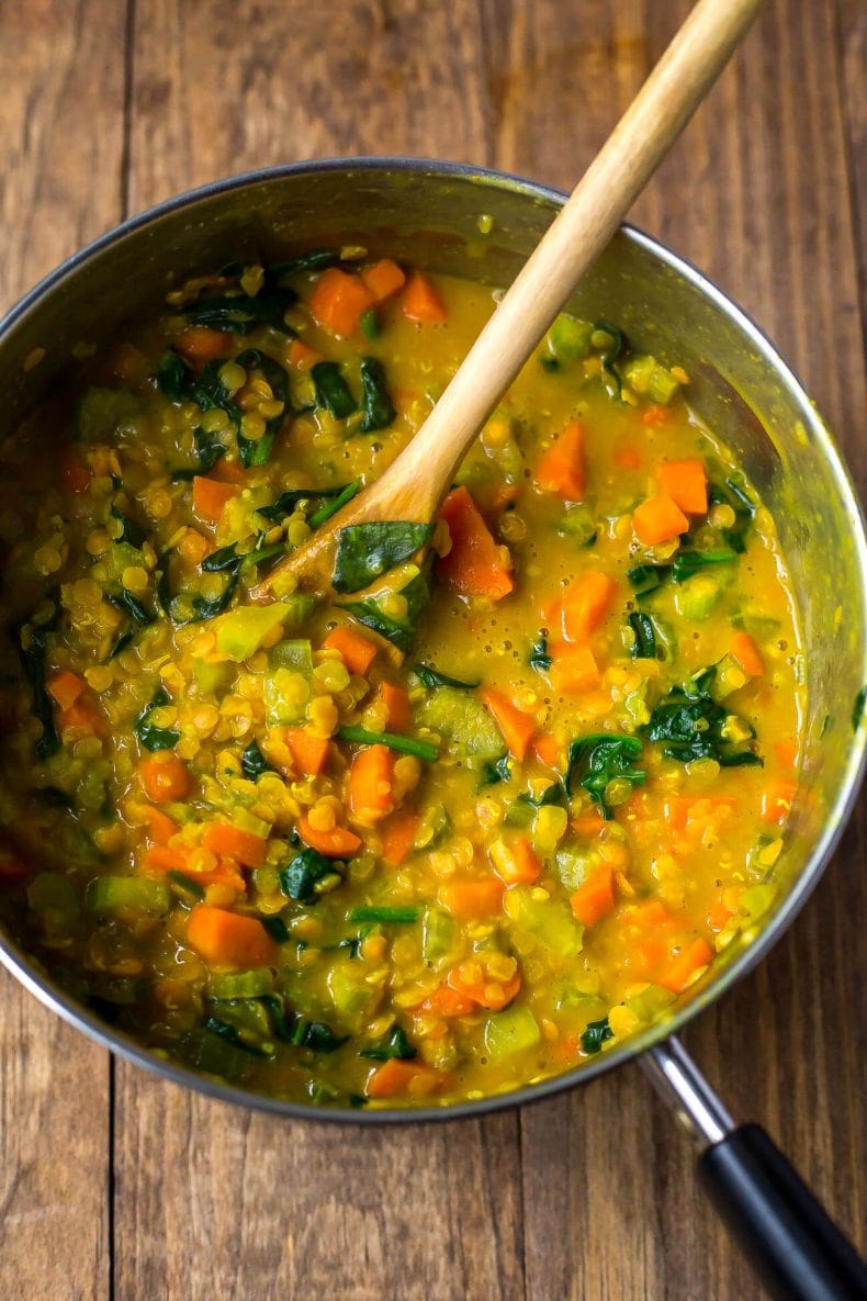
[[[528,199],[541,199],[545,203],[552,204],[555,208],[560,207],[567,199],[567,194],[564,191],[537,181],[530,181],[526,177],[516,176],[515,173],[500,172],[493,168],[473,167],[467,163],[441,161],[438,159],[429,157],[391,157],[389,155],[368,155],[361,157],[307,159],[298,163],[264,168],[261,170],[238,173],[220,181],[211,181],[192,190],[186,190],[182,194],[174,195],[173,198],[165,199],[161,203],[144,209],[143,212],[135,213],[120,225],[91,241],[78,252],[73,254],[57,268],[44,276],[6,312],[3,319],[0,319],[0,347],[3,346],[4,338],[13,330],[13,328],[22,319],[25,319],[29,312],[32,311],[43,301],[43,298],[45,298],[45,295],[62,284],[62,281],[78,272],[103,250],[109,248],[112,245],[125,239],[127,235],[134,234],[139,229],[159,221],[164,216],[169,216],[183,208],[192,208],[198,203],[213,198],[214,195],[226,194],[252,185],[268,185],[272,181],[281,181],[287,176],[316,174],[321,172],[346,172],[351,174],[354,172],[377,170],[422,173],[438,177],[473,180],[480,182],[481,187],[494,186],[510,189],[525,195]],[[484,191],[480,189],[480,193]],[[729,320],[732,320],[749,337],[750,343],[755,347],[762,360],[773,372],[776,372],[786,390],[794,396],[801,409],[801,419],[809,428],[816,444],[822,448],[823,458],[828,466],[837,492],[846,505],[849,519],[853,522],[858,567],[864,579],[864,585],[867,587],[867,537],[864,533],[864,519],[853,481],[831,431],[812,406],[794,369],[777,351],[768,336],[760,329],[753,317],[738,307],[738,304],[734,303],[734,301],[729,298],[728,294],[719,288],[719,285],[710,280],[702,271],[698,269],[698,267],[689,262],[689,259],[673,252],[666,245],[628,222],[621,225],[620,234],[643,252],[663,263],[675,275],[679,275],[681,278],[688,281],[703,297],[708,298],[718,311],[728,316]],[[863,677],[867,679],[867,648],[864,658],[866,670]],[[95,1016],[95,1013],[90,1012],[86,1007],[66,994],[53,980],[47,977],[40,971],[38,960],[21,951],[18,946],[13,945],[10,938],[3,930],[0,930],[0,963],[3,963],[3,965],[6,967],[6,969],[12,972],[12,974],[16,976],[18,981],[21,981],[21,984],[42,1003],[62,1016],[69,1024],[86,1033],[91,1039],[95,1039],[101,1047],[118,1054],[127,1062],[143,1067],[153,1075],[159,1075],[173,1084],[192,1088],[218,1102],[230,1102],[237,1106],[251,1107],[257,1111],[286,1116],[294,1120],[313,1120],[334,1124],[360,1123],[367,1125],[394,1125],[433,1120],[443,1121],[473,1119],[506,1107],[539,1102],[543,1098],[550,1098],[554,1094],[573,1088],[575,1085],[588,1084],[597,1076],[601,1076],[607,1071],[624,1064],[625,1062],[634,1060],[642,1053],[653,1049],[654,1045],[662,1043],[672,1034],[676,1034],[682,1029],[682,1026],[692,1021],[693,1017],[698,1016],[711,1003],[716,1002],[716,999],[731,989],[737,981],[749,974],[757,963],[776,943],[783,932],[788,929],[818,885],[819,878],[828,865],[831,856],[846,827],[866,765],[867,729],[862,727],[859,735],[853,738],[853,744],[846,762],[845,779],[841,783],[833,807],[828,811],[828,817],[822,835],[814,846],[805,868],[793,882],[786,898],[783,900],[771,921],[759,930],[758,935],[744,947],[742,952],[738,954],[724,968],[724,971],[715,976],[705,989],[695,994],[669,1017],[647,1026],[647,1029],[634,1039],[628,1039],[623,1045],[617,1045],[606,1053],[601,1053],[591,1062],[564,1072],[563,1075],[542,1080],[538,1084],[525,1085],[521,1089],[494,1094],[476,1101],[445,1105],[441,1107],[389,1107],[374,1111],[364,1111],[361,1108],[354,1110],[351,1107],[331,1107],[318,1106],[316,1103],[289,1102],[268,1097],[265,1094],[257,1094],[248,1089],[224,1084],[216,1077],[198,1073],[174,1060],[162,1059],[156,1055],[153,1050],[146,1049],[130,1036],[112,1029],[105,1021],[100,1020]]]

